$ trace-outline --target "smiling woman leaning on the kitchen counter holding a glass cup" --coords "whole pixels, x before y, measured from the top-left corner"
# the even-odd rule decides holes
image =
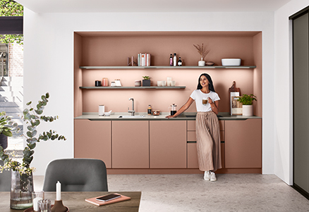
[[[203,101],[204,99],[204,101]],[[205,101],[207,99],[207,101]],[[220,128],[217,114],[219,112],[219,95],[214,92],[212,78],[207,73],[202,73],[198,78],[198,89],[194,90],[190,98],[174,116],[174,118],[186,111],[195,101],[196,114],[196,143],[198,150],[198,166],[205,171],[204,180],[216,181],[214,174],[221,165]]]

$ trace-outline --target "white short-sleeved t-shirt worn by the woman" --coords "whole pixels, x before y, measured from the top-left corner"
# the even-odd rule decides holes
[[[195,105],[196,105],[196,111],[198,112],[207,112],[207,111],[212,111],[212,107],[210,106],[209,103],[206,105],[202,104],[202,99],[203,98],[208,98],[212,99],[212,101],[218,101],[220,100],[219,95],[216,92],[210,91],[208,94],[204,94],[203,92],[200,91],[200,89],[196,89],[192,92],[190,97],[195,100]]]

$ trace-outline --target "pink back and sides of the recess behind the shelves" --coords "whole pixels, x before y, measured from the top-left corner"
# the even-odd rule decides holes
[[[150,53],[152,66],[169,66],[169,55],[181,56],[183,66],[197,66],[200,60],[193,44],[204,44],[210,50],[205,61],[221,66],[222,58],[241,58],[242,66],[252,69],[111,69],[81,70],[79,66],[127,66],[127,58]],[[135,111],[146,112],[148,104],[163,112],[172,103],[178,108],[186,103],[198,85],[201,73],[208,73],[219,94],[219,111],[229,111],[229,87],[236,81],[242,94],[255,94],[255,115],[262,116],[262,32],[74,32],[74,115],[97,112],[104,104],[106,111],[126,112],[135,99]],[[134,86],[142,76],[157,80],[172,77],[176,85],[186,89],[79,89],[94,86],[103,77],[120,79],[123,86]],[[195,104],[188,109],[195,111]]]

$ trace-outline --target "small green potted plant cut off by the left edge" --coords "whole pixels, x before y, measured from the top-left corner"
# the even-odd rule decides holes
[[[19,128],[17,123],[14,123],[11,116],[6,116],[6,112],[2,111],[0,113],[0,146],[3,149],[8,147],[8,137],[12,137],[12,131],[18,131]]]

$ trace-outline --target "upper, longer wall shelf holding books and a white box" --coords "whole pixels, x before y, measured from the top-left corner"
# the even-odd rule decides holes
[[[80,66],[81,69],[205,69],[205,68],[256,68],[256,66]]]

